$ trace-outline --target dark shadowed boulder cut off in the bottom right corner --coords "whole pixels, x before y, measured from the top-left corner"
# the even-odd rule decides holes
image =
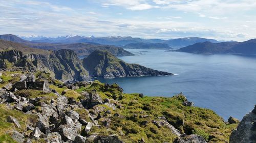
[[[233,130],[229,138],[230,143],[255,143],[256,142],[256,105]]]

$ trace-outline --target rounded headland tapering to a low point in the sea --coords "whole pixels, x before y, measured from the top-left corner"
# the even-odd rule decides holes
[[[138,64],[127,64],[117,59],[108,51],[96,50],[83,60],[83,66],[93,77],[114,78],[130,76],[161,76],[173,75],[140,66]]]

